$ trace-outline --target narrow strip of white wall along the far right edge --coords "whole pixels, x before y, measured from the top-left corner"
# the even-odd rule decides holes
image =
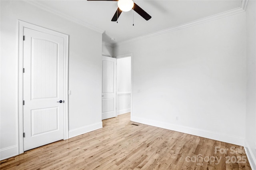
[[[256,169],[256,2],[248,1],[246,8],[246,138],[245,148],[252,169]]]

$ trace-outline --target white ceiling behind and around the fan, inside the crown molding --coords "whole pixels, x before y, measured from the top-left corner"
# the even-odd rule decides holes
[[[102,41],[110,45],[240,8],[241,0],[134,0],[152,18],[144,20],[133,10],[122,12],[118,23],[111,19],[116,1],[40,0],[30,3],[104,32]],[[134,26],[133,24],[134,14]],[[115,40],[111,40],[115,38]]]

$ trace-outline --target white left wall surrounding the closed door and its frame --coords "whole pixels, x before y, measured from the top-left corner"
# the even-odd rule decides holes
[[[69,137],[102,127],[102,34],[24,1],[1,3],[1,160],[18,154],[18,19],[69,35]]]

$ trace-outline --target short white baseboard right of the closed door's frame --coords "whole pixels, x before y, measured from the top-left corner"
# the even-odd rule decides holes
[[[97,130],[99,128],[102,128],[102,122],[94,123],[92,125],[87,125],[87,126],[76,128],[76,129],[72,129],[72,130],[68,131],[68,138],[72,138],[72,137],[78,136],[80,134],[91,132],[91,131]]]

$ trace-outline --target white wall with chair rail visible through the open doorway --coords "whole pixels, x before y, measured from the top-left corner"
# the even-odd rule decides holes
[[[116,112],[131,111],[131,57],[116,59]]]

